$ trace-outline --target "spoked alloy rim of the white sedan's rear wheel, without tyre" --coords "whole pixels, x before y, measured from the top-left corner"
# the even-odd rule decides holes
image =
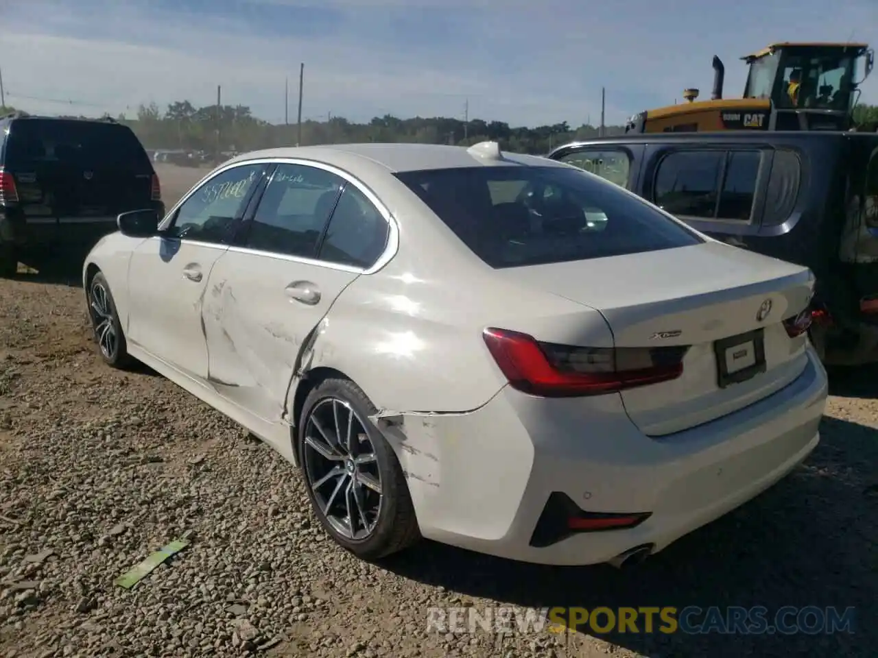
[[[305,426],[305,474],[320,513],[335,532],[365,540],[381,513],[378,457],[354,408],[335,397],[313,406]]]

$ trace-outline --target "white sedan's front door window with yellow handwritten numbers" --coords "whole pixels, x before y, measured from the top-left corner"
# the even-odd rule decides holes
[[[226,240],[264,168],[262,164],[241,165],[213,176],[177,209],[169,236],[202,242]]]

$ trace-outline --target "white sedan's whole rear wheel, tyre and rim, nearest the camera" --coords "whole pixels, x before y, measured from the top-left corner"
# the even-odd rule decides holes
[[[364,560],[420,538],[396,454],[369,420],[375,412],[355,383],[327,379],[299,418],[299,463],[314,513],[336,543]]]

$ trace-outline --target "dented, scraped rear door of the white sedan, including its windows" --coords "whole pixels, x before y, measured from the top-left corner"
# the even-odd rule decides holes
[[[209,377],[234,404],[277,422],[320,320],[378,260],[389,229],[353,182],[313,163],[278,164],[255,201],[208,283]]]

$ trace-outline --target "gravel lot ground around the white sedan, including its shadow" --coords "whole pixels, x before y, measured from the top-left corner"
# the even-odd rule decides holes
[[[874,656],[878,379],[834,388],[804,467],[636,569],[430,543],[366,564],[327,540],[270,448],[147,368],[100,363],[75,269],[19,274],[0,281],[0,656]],[[133,590],[113,584],[181,536],[191,544]],[[834,605],[861,623],[817,636],[427,632],[428,607],[462,605]]]

